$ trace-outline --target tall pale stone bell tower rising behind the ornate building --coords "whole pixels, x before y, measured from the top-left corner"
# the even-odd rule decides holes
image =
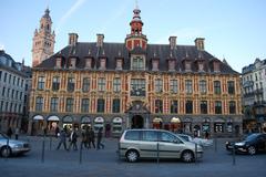
[[[52,20],[50,10],[47,9],[40,20],[39,30],[35,29],[32,43],[32,67],[53,54],[54,49],[54,31],[52,32]]]

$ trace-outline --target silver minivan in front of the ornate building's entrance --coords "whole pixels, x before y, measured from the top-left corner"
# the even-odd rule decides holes
[[[139,158],[202,158],[203,148],[163,129],[126,129],[119,142],[119,155],[134,163]]]

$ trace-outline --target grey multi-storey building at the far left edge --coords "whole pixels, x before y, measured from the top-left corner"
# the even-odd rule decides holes
[[[13,131],[18,127],[23,131],[24,95],[27,93],[27,77],[23,62],[18,63],[0,51],[0,131],[6,132],[8,127]],[[28,116],[27,116],[28,118]],[[25,129],[24,129],[25,131]]]

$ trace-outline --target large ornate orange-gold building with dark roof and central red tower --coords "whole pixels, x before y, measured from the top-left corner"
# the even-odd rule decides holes
[[[242,133],[241,77],[227,63],[195,45],[150,44],[134,9],[123,43],[79,42],[33,69],[30,133],[55,126],[103,127],[109,135],[125,128],[165,128],[203,136]]]

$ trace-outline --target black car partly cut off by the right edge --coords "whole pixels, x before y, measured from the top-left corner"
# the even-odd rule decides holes
[[[236,153],[247,153],[250,155],[255,155],[257,153],[266,153],[266,134],[250,134],[242,142],[226,142],[225,146],[229,152],[235,148]]]

